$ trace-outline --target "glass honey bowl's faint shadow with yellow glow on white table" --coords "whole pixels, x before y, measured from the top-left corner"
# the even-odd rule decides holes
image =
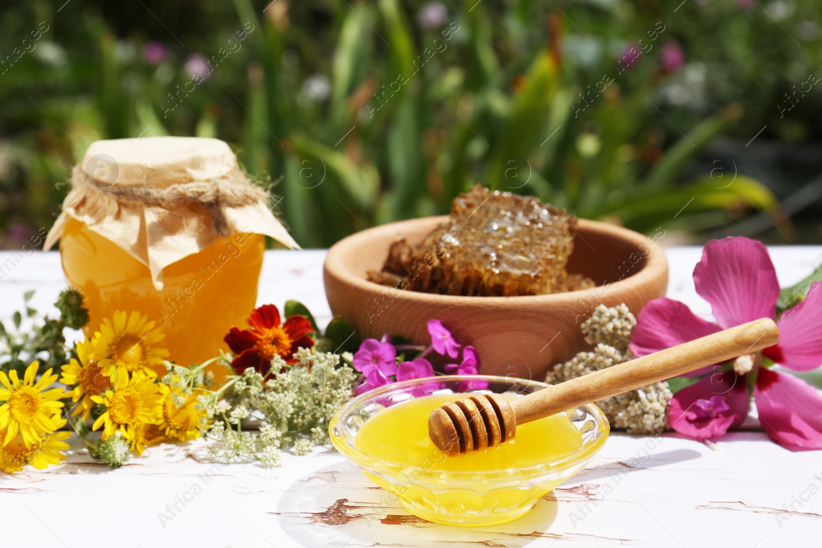
[[[343,548],[348,545],[525,546],[547,533],[556,519],[556,501],[539,500],[522,518],[487,527],[454,527],[417,518],[389,499],[350,463],[326,467],[295,481],[275,514],[279,525],[302,546]]]

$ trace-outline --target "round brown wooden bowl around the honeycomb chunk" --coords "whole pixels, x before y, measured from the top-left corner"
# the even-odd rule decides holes
[[[484,375],[543,380],[548,367],[589,348],[580,324],[596,306],[624,302],[634,314],[667,289],[661,246],[626,228],[580,219],[568,272],[596,288],[528,297],[455,297],[403,291],[368,282],[388,246],[404,235],[413,246],[447,216],[367,228],[331,246],[323,278],[331,311],[363,338],[404,335],[428,344],[428,320],[441,320],[462,344],[477,348]]]

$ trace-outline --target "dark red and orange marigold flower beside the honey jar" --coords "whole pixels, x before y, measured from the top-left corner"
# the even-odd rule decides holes
[[[314,328],[302,315],[293,315],[281,323],[277,307],[263,305],[255,308],[246,321],[251,329],[232,327],[223,339],[236,354],[231,365],[238,373],[253,367],[265,375],[275,356],[293,363],[294,352],[314,346],[314,339],[309,336]]]

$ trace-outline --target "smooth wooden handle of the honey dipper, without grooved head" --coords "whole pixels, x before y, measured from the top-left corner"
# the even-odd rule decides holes
[[[511,402],[511,408],[517,424],[535,421],[713,363],[758,352],[778,341],[779,330],[774,320],[749,321],[516,398]]]

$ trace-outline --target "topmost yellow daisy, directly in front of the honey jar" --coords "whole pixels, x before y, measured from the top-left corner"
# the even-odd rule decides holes
[[[164,336],[147,315],[116,311],[112,320],[103,320],[91,339],[92,357],[109,376],[121,368],[128,372],[145,371],[153,377],[165,375],[163,359],[169,357],[169,351],[155,347]]]

